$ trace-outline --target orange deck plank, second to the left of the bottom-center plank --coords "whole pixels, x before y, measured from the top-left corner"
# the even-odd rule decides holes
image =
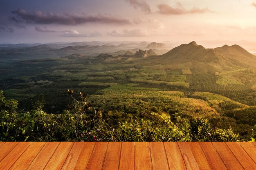
[[[96,142],[87,170],[101,170],[106,156],[108,142]]]

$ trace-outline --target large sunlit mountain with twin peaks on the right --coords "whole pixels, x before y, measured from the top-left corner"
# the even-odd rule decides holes
[[[224,45],[215,49],[206,49],[196,42],[182,44],[158,57],[148,58],[151,62],[175,65],[182,68],[197,68],[207,72],[221,72],[240,68],[256,68],[256,56],[238,45]]]

